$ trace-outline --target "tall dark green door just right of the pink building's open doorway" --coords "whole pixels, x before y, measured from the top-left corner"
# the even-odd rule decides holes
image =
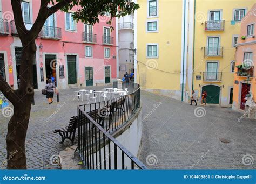
[[[68,55],[68,84],[77,83],[77,64],[76,55]]]

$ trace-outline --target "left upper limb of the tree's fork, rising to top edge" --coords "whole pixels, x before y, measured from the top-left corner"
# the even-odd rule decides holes
[[[14,12],[16,30],[19,34],[19,38],[21,38],[21,41],[23,43],[26,34],[28,34],[28,30],[26,29],[23,22],[21,0],[11,0],[11,6],[12,11]]]

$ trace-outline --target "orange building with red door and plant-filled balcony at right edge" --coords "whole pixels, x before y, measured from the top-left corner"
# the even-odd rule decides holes
[[[241,33],[238,38],[234,73],[234,110],[246,109],[246,95],[251,91],[254,105],[256,102],[256,4],[241,21]],[[247,100],[248,101],[248,100]],[[256,118],[256,106],[252,107]]]

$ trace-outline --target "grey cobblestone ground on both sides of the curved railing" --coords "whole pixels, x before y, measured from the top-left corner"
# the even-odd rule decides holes
[[[71,143],[65,140],[64,144],[59,144],[60,136],[53,134],[53,131],[66,126],[71,116],[76,116],[77,102],[73,101],[74,90],[76,89],[60,90],[60,103],[56,103],[55,95],[55,102],[51,105],[45,96],[41,95],[41,91],[35,93],[36,105],[32,106],[26,138],[28,169],[58,169],[50,164],[50,158],[71,146]],[[256,168],[255,164],[242,164],[242,157],[246,154],[256,158],[256,122],[247,118],[238,122],[242,116],[241,112],[206,106],[203,117],[196,117],[195,106],[168,97],[142,91],[141,100],[143,140],[139,159],[149,168]],[[3,162],[6,160],[5,136],[8,118],[4,118],[2,114],[0,116],[1,169],[6,169]],[[221,143],[219,138],[226,138],[230,143]]]

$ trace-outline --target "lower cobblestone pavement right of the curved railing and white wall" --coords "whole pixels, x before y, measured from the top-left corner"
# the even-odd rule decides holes
[[[256,121],[243,118],[241,112],[211,105],[197,108],[144,91],[142,104],[139,159],[149,168],[256,168]],[[222,143],[219,138],[230,143]]]

